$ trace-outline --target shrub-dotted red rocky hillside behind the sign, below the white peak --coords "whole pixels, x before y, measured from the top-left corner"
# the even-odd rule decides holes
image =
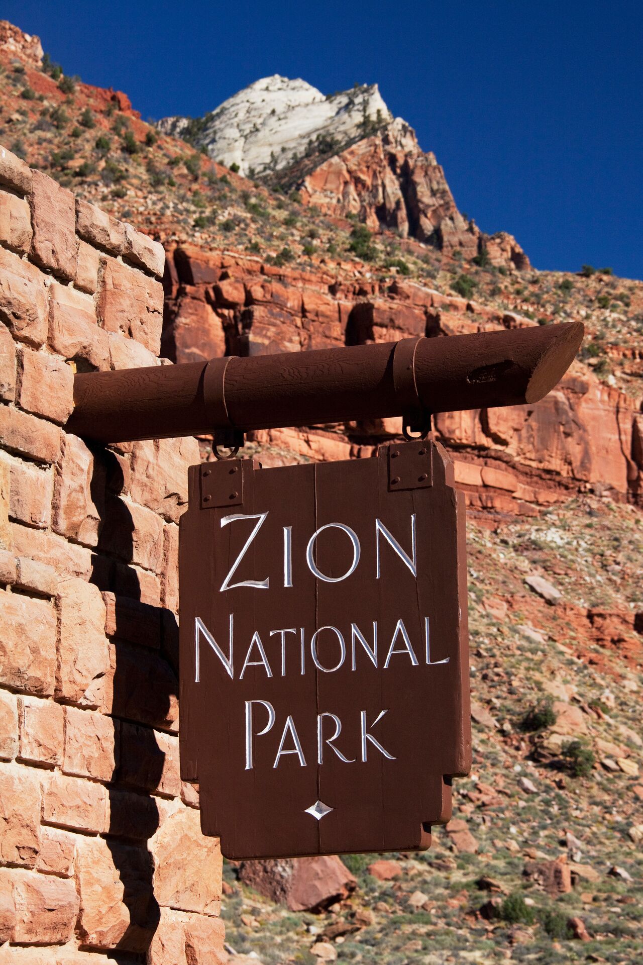
[[[636,960],[643,285],[589,266],[527,268],[507,237],[441,249],[412,236],[415,222],[408,237],[393,214],[388,224],[375,212],[376,225],[367,208],[380,208],[380,190],[393,198],[392,182],[378,181],[389,156],[417,167],[418,184],[435,178],[437,221],[455,219],[441,169],[430,155],[414,160],[396,124],[292,169],[300,190],[284,195],[159,135],[121,93],[66,81],[46,61],[42,69],[39,47],[0,25],[0,143],[163,241],[169,357],[551,321],[587,328],[548,400],[437,420],[469,502],[476,758],[469,780],[455,783],[455,822],[425,856],[392,856],[399,869],[385,869],[388,880],[367,872],[372,857],[347,859],[358,889],[322,915],[284,910],[229,867],[229,945],[265,963]],[[343,186],[324,208],[332,172]],[[356,204],[349,182],[359,211],[333,200]],[[404,199],[389,210],[409,218]],[[9,210],[0,222],[11,229]],[[470,234],[469,223],[453,224]],[[264,465],[365,457],[398,432],[394,421],[279,430],[256,433],[246,449]],[[211,457],[209,440],[201,450]],[[533,576],[561,593],[555,606],[530,589]],[[525,730],[530,708],[548,698],[542,728]],[[580,777],[564,752],[575,739],[594,756]],[[576,919],[592,942],[582,951],[583,928],[567,926]]]

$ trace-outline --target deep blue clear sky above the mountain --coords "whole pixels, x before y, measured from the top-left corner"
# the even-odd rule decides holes
[[[643,277],[636,0],[5,0],[0,16],[143,117],[204,113],[258,77],[377,82],[461,210],[539,268]]]

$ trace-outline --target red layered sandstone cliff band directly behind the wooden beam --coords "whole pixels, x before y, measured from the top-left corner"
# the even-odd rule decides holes
[[[164,287],[163,350],[176,362],[536,324],[407,280],[338,280],[323,267],[312,273],[193,245],[168,252]],[[643,497],[640,400],[579,363],[535,405],[443,413],[435,428],[473,510],[533,515],[588,489]],[[399,419],[386,419],[253,438],[268,447],[261,454],[268,465],[369,457],[400,430]]]

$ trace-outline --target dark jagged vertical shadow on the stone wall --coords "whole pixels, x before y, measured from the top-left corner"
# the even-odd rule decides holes
[[[108,786],[109,823],[105,862],[121,878],[122,908],[105,908],[103,948],[126,951],[114,956],[130,965],[131,953],[147,951],[160,921],[153,892],[153,859],[149,840],[160,826],[158,799],[152,792],[163,780],[166,754],[154,727],[167,728],[177,689],[178,627],[174,613],[142,601],[134,557],[135,522],[120,495],[126,491],[121,455],[93,447],[92,497],[100,515],[91,581],[114,593],[111,614],[111,712],[115,729],[116,766]],[[109,610],[109,607],[108,607]],[[108,613],[108,621],[110,615]],[[102,876],[101,876],[102,881]],[[96,947],[87,936],[86,947]]]

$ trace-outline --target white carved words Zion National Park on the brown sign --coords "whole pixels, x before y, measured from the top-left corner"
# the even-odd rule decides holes
[[[240,579],[239,577],[243,575],[243,562],[244,558],[248,554],[248,550],[253,544],[257,534],[259,533],[261,527],[265,523],[268,517],[268,512],[246,514],[246,513],[232,513],[228,516],[223,516],[221,519],[221,526],[231,525],[232,523],[238,523],[245,520],[250,520],[255,523],[253,526],[249,537],[246,539],[241,551],[238,556],[228,569],[225,579],[223,580],[221,587],[219,588],[220,593],[225,593],[229,590],[236,590],[242,587],[250,587],[255,590],[269,590],[270,589],[270,574],[262,576],[260,579],[248,578]],[[411,515],[411,528],[410,528],[410,542],[411,551],[408,553],[400,544],[397,538],[395,538],[384,525],[381,519],[375,519],[375,578],[381,578],[381,554],[385,547],[388,545],[388,552],[392,552],[396,555],[403,565],[405,565],[413,574],[415,579],[417,578],[417,565],[416,565],[416,539],[415,539],[415,517],[416,514]],[[325,530],[336,529],[341,531],[346,535],[348,544],[352,549],[352,561],[348,565],[346,571],[340,576],[329,576],[327,573],[322,572],[319,566],[315,563],[314,550],[317,538]],[[282,579],[282,586],[284,588],[293,587],[293,560],[292,560],[292,527],[283,526],[282,527],[282,560],[283,568],[282,574],[280,574],[280,579]],[[327,523],[325,526],[320,526],[319,529],[315,530],[312,536],[308,539],[308,545],[305,554],[305,563],[312,575],[325,583],[340,583],[341,581],[347,579],[352,573],[355,572],[358,565],[360,565],[362,547],[360,544],[360,539],[357,534],[350,526],[346,526],[343,523]],[[241,572],[238,572],[241,567]],[[324,637],[324,642],[328,646],[332,643],[335,648],[335,662],[330,666],[326,666],[320,659],[319,656],[319,641]],[[383,639],[384,638],[384,639]],[[380,645],[384,642],[384,648]],[[269,629],[266,632],[261,633],[255,630],[250,642],[245,641],[242,645],[242,653],[244,654],[243,661],[239,663],[237,659],[236,670],[235,670],[235,639],[234,639],[234,614],[230,613],[228,616],[228,652],[226,653],[223,648],[219,646],[217,641],[214,639],[213,635],[210,633],[208,628],[205,626],[200,617],[195,618],[195,682],[199,683],[201,681],[201,647],[202,644],[206,644],[211,650],[216,654],[223,671],[228,674],[230,679],[243,680],[244,676],[250,671],[250,668],[257,668],[255,673],[263,673],[267,678],[281,675],[286,676],[287,671],[295,673],[298,675],[305,675],[307,673],[307,668],[311,670],[312,673],[320,671],[323,674],[335,674],[344,665],[350,667],[351,671],[356,671],[358,669],[358,664],[360,660],[370,662],[375,668],[382,667],[383,670],[388,670],[391,665],[391,660],[394,657],[398,659],[406,659],[410,661],[411,666],[419,666],[420,660],[427,666],[438,666],[440,664],[446,664],[449,661],[449,657],[445,657],[442,660],[432,660],[431,659],[431,643],[430,643],[430,621],[429,617],[423,618],[423,628],[421,632],[421,639],[413,639],[410,635],[407,627],[404,624],[404,620],[390,620],[389,625],[378,626],[377,620],[372,620],[371,625],[366,627],[360,627],[357,623],[351,622],[348,626],[321,626],[315,629],[313,632],[307,630],[306,627],[300,626],[288,626],[288,627],[278,627],[275,629]],[[238,641],[236,642],[238,644]],[[309,653],[309,657],[308,657]],[[237,649],[238,654],[238,649]],[[239,670],[240,666],[240,670]],[[262,668],[261,671],[258,668]],[[261,728],[261,730],[255,730],[255,722],[257,709],[263,707],[263,715],[265,717],[267,713],[267,722]],[[375,716],[372,723],[368,723],[366,717],[366,711],[360,710],[358,712],[358,731],[359,731],[359,759],[362,762],[367,760],[368,755],[368,745],[371,744],[380,754],[382,754],[388,760],[394,760],[395,757],[389,753],[389,751],[380,743],[379,740],[372,733],[368,731],[368,728],[374,728],[378,724],[384,715],[388,713],[387,709],[381,710],[379,714]],[[266,700],[252,700],[245,701],[244,707],[244,720],[243,726],[245,728],[245,749],[246,749],[246,760],[245,768],[246,770],[252,770],[255,766],[255,755],[253,750],[253,738],[262,737],[266,735],[275,726],[276,714],[275,708],[272,703]],[[334,725],[334,732],[330,735],[324,733],[325,721],[332,721]],[[317,764],[324,763],[324,745],[328,745],[331,750],[335,753],[335,756],[342,760],[344,763],[355,763],[358,757],[349,758],[338,747],[335,747],[335,741],[339,737],[342,730],[342,724],[340,719],[335,713],[331,711],[324,711],[317,714],[317,747],[316,755],[314,761]],[[295,722],[291,715],[288,715],[285,719],[285,723],[281,730],[281,740],[277,749],[277,754],[274,759],[273,767],[278,767],[282,757],[287,755],[295,755],[299,759],[299,763],[302,767],[306,767],[308,764],[302,743],[299,738]]]

